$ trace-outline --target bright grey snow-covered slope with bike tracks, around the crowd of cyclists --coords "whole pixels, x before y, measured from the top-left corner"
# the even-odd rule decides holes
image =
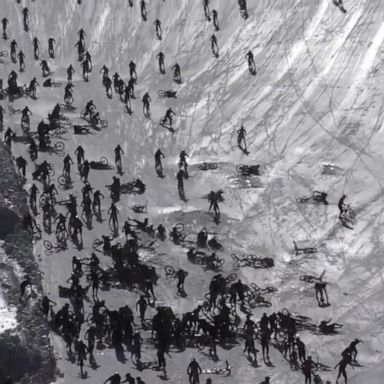
[[[331,0],[279,0],[248,1],[249,18],[241,18],[234,0],[210,2],[218,11],[221,29],[216,32],[220,49],[219,58],[210,50],[212,24],[204,18],[201,2],[192,0],[152,0],[148,3],[148,21],[140,17],[138,1],[130,8],[124,0],[36,0],[24,2],[31,11],[31,31],[22,29],[22,4],[4,0],[2,13],[10,20],[9,36],[15,38],[26,53],[26,72],[19,74],[21,82],[34,75],[41,79],[39,63],[32,59],[32,38],[36,35],[44,45],[49,36],[57,40],[57,58],[49,64],[55,81],[65,81],[65,70],[75,64],[75,104],[71,115],[78,119],[85,103],[93,99],[109,128],[95,136],[68,136],[66,151],[73,154],[82,144],[89,160],[107,156],[113,161],[113,148],[123,143],[125,155],[123,180],[140,176],[147,184],[149,218],[155,225],[185,221],[195,228],[206,225],[220,233],[225,245],[225,270],[231,270],[231,252],[259,253],[275,259],[270,270],[244,269],[245,282],[274,285],[279,291],[272,297],[273,306],[283,307],[313,318],[314,322],[332,318],[344,324],[343,333],[333,337],[319,337],[303,333],[308,352],[321,362],[333,366],[340,352],[355,337],[364,340],[359,346],[362,368],[350,372],[351,383],[381,383],[379,374],[371,372],[383,362],[382,300],[382,175],[384,133],[382,97],[384,24],[383,8],[378,0],[345,1],[348,13],[344,15]],[[24,5],[25,5],[24,4]],[[163,40],[155,37],[153,22],[160,19]],[[90,82],[80,77],[74,44],[77,31],[84,28],[87,47],[93,57],[94,71]],[[1,49],[6,47],[0,42]],[[245,55],[255,55],[257,75],[247,68]],[[166,75],[157,69],[156,54],[164,52]],[[101,86],[99,69],[103,64],[111,74],[118,72],[124,79],[129,76],[128,63],[137,63],[137,100],[133,115],[123,111],[114,96],[108,100]],[[179,63],[183,83],[172,82],[170,67]],[[1,77],[13,69],[9,61],[0,67]],[[176,100],[160,100],[159,89],[175,89]],[[152,97],[152,118],[142,114],[141,97],[145,92]],[[28,103],[33,112],[32,126],[61,101],[63,88],[39,89],[37,101],[18,100],[14,107]],[[2,102],[2,105],[5,103]],[[158,124],[166,108],[177,113],[176,132],[171,134]],[[14,117],[7,116],[8,121]],[[6,120],[7,121],[7,120]],[[236,130],[244,124],[248,131],[249,156],[236,146]],[[14,127],[18,120],[14,120]],[[166,155],[165,179],[156,177],[153,154],[161,148]],[[185,149],[190,163],[218,161],[219,170],[200,172],[191,167],[186,181],[186,203],[177,195],[175,173],[178,154]],[[15,145],[15,154],[24,154],[25,148]],[[44,158],[44,156],[41,156]],[[41,160],[41,159],[40,159]],[[51,156],[57,169],[62,158]],[[341,167],[334,176],[321,173],[322,163]],[[261,164],[262,176],[257,188],[240,183],[235,166],[239,163]],[[32,167],[29,166],[29,172]],[[90,182],[105,188],[114,173],[91,171]],[[81,183],[76,179],[75,187]],[[225,191],[222,205],[222,223],[211,223],[207,202],[201,195],[211,189]],[[328,193],[330,205],[299,205],[296,198],[311,194],[313,190]],[[345,193],[357,210],[358,223],[354,230],[343,228],[338,221],[337,201]],[[67,194],[62,194],[66,197]],[[120,220],[132,211],[128,204],[135,198],[123,198],[118,205]],[[142,200],[141,200],[142,201]],[[109,203],[106,199],[104,210]],[[104,215],[106,213],[104,212]],[[92,241],[108,232],[107,225],[97,224],[92,232],[86,231],[86,249],[89,255]],[[317,246],[312,256],[295,256],[292,240]],[[57,286],[71,270],[70,259],[74,249],[41,257],[45,273],[46,292],[58,300]],[[157,294],[160,302],[172,305],[176,311],[192,308],[207,290],[212,273],[190,265],[181,248],[162,245],[151,262],[162,268],[166,264],[183,266],[190,272],[187,278],[187,299],[175,295],[175,287],[164,278]],[[36,254],[43,255],[42,245],[36,245]],[[105,263],[110,260],[103,260]],[[160,270],[160,269],[159,269]],[[301,274],[320,274],[326,270],[331,307],[316,306],[314,292],[299,281]],[[202,289],[204,287],[204,289]],[[132,304],[135,296],[121,291],[105,294],[107,302],[116,307]],[[255,318],[262,310],[255,311]],[[83,382],[78,370],[65,360],[65,351],[55,339],[59,362],[64,371],[64,383]],[[241,346],[242,347],[242,346]],[[263,364],[255,369],[242,356],[241,347],[219,351],[221,361],[229,359],[238,383],[258,382],[270,375],[273,383],[300,383],[300,373],[291,372],[277,351],[271,360],[275,367]],[[174,354],[169,360],[171,383],[185,382],[189,354],[196,356],[203,367],[212,363],[188,350]],[[144,361],[153,360],[155,352],[148,347]],[[85,382],[100,382],[110,373],[132,370],[132,365],[118,362],[112,350],[96,356],[101,365],[97,371],[88,368],[90,378]],[[335,372],[322,374],[333,378]],[[95,379],[97,377],[97,379]],[[153,372],[144,372],[147,383],[158,381]],[[231,379],[214,378],[215,383]]]

